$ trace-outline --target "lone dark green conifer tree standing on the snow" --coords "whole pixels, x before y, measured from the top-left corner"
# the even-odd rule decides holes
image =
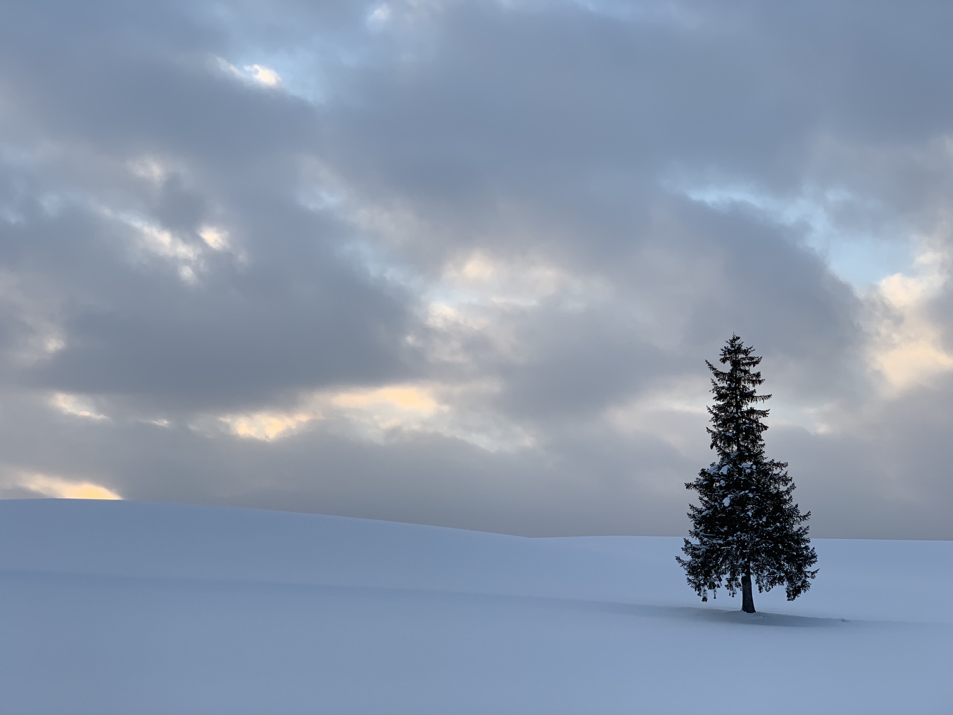
[[[794,483],[787,463],[764,458],[761,433],[767,425],[761,420],[768,411],[755,405],[771,396],[756,392],[764,379],[752,372],[761,361],[753,352],[733,335],[721,348],[727,371],[705,360],[715,395],[708,434],[719,460],[685,484],[699,493],[699,505],[689,506],[694,541],[685,540],[687,558],[676,557],[702,601],[708,591],[714,597],[722,584],[732,596],[740,588],[746,613],[755,612],[752,577],[759,591],[783,583],[787,600],[793,601],[818,573],[808,570],[818,561],[803,525],[811,513],[801,514],[791,499]]]

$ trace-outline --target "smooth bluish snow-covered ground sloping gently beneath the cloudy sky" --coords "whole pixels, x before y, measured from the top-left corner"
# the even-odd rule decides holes
[[[751,616],[679,543],[0,501],[0,713],[953,712],[953,542],[815,540]]]

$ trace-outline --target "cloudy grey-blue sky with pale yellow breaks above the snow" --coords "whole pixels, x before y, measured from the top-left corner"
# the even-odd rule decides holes
[[[953,539],[953,6],[10,0],[0,497]]]

